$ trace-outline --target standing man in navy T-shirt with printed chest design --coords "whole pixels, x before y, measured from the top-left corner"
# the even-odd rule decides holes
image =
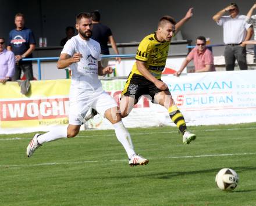
[[[31,61],[22,61],[24,58],[32,58],[32,52],[35,49],[35,38],[33,32],[24,27],[25,20],[22,13],[15,15],[16,28],[9,33],[9,42],[7,49],[15,54],[16,66],[15,75],[12,80],[20,79],[23,73],[26,79],[33,80],[33,68]]]

